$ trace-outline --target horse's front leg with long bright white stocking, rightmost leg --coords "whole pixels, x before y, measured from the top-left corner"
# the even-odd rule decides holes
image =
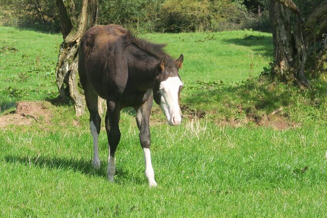
[[[156,186],[154,180],[154,171],[151,163],[150,153],[150,128],[149,117],[152,108],[152,99],[148,99],[140,107],[136,107],[136,122],[138,129],[140,130],[140,142],[143,149],[144,163],[145,163],[145,176],[148,179],[149,186]]]

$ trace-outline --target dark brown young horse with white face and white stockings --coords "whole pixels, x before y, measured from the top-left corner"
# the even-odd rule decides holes
[[[107,100],[105,126],[109,144],[107,177],[114,181],[115,152],[120,140],[120,111],[133,107],[143,150],[145,177],[149,186],[156,186],[150,154],[149,117],[153,100],[160,105],[170,125],[182,122],[179,76],[183,54],[174,59],[163,51],[165,44],[140,39],[118,25],[90,28],[82,37],[78,52],[78,74],[90,112],[93,137],[92,166],[100,169],[98,137],[101,118],[98,96]]]

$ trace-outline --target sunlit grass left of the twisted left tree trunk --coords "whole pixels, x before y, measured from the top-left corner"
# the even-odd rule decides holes
[[[0,27],[0,38],[0,112],[20,99],[55,97],[62,36]]]

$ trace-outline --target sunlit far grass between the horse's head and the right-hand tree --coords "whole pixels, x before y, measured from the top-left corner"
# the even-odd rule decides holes
[[[248,35],[258,39],[244,39]],[[166,50],[175,57],[184,54],[180,74],[186,85],[194,81],[237,82],[256,77],[273,53],[271,35],[252,31],[146,34],[143,38],[168,43]]]

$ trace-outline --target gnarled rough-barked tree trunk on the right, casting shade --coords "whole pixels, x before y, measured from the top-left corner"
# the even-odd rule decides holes
[[[283,80],[296,80],[299,85],[309,86],[304,75],[307,50],[303,40],[303,19],[300,10],[291,0],[271,0],[270,17],[273,25],[273,71]],[[290,11],[296,16],[295,31],[290,25]]]

